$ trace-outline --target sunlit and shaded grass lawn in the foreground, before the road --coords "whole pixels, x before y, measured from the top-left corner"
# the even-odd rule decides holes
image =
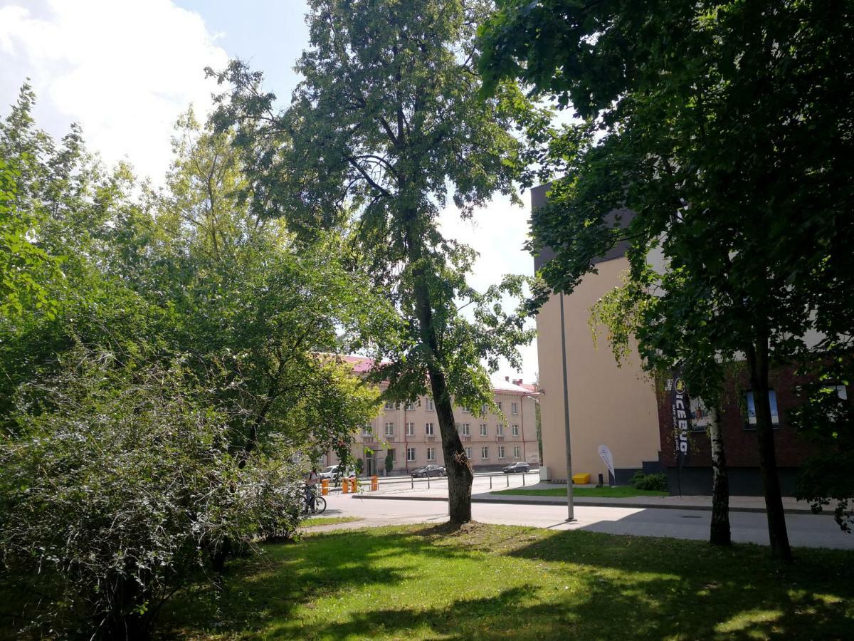
[[[309,534],[185,593],[180,638],[851,638],[854,553],[468,524]]]

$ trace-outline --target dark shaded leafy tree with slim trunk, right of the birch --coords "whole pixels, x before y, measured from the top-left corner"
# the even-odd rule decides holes
[[[775,556],[790,558],[769,406],[772,363],[850,334],[851,6],[837,2],[500,3],[488,82],[519,76],[583,119],[553,145],[566,177],[535,215],[544,270],[570,291],[592,258],[658,239],[698,296],[715,347],[746,358]],[[613,209],[636,213],[628,227]],[[820,348],[822,346],[820,345]]]

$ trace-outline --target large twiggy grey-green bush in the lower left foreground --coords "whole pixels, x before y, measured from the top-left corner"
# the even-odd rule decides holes
[[[181,368],[85,356],[26,390],[15,420],[0,440],[0,560],[20,586],[15,622],[37,634],[146,638],[214,553],[295,531],[294,466],[231,451]]]

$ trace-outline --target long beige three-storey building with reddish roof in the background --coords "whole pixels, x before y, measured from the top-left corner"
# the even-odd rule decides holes
[[[354,371],[363,373],[371,362],[355,362]],[[500,469],[512,462],[540,462],[536,437],[536,403],[539,391],[521,379],[509,377],[493,381],[495,403],[500,413],[471,413],[457,405],[453,417],[459,438],[474,470]],[[429,396],[413,403],[385,403],[380,413],[356,432],[353,456],[361,459],[365,474],[385,473],[385,459],[391,454],[392,474],[408,474],[424,465],[444,465],[442,435],[436,407]],[[334,465],[337,457],[329,452],[322,463]]]

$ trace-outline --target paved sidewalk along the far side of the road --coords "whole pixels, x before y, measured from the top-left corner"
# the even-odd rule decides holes
[[[518,475],[521,476],[521,475]],[[522,486],[522,481],[518,476],[507,478],[496,475],[492,479],[494,491],[506,490],[509,485],[511,488],[519,488],[525,490],[542,490],[542,489],[566,489],[566,485],[554,485],[550,483],[541,483],[539,479],[533,479],[531,483],[531,475],[527,475],[527,479]],[[592,487],[592,485],[590,486]],[[493,494],[488,487],[488,478],[476,477],[471,488],[472,503],[518,503],[521,505],[565,505],[566,497],[532,497],[513,494]],[[406,481],[396,483],[394,485],[380,485],[379,491],[365,491],[360,493],[363,498],[371,499],[393,499],[406,501],[447,501],[447,479],[431,479],[430,486],[424,481],[419,481],[412,489],[412,485]],[[705,496],[683,496],[683,497],[627,497],[627,498],[611,498],[611,497],[574,497],[576,505],[586,505],[595,507],[625,507],[625,508],[652,508],[652,509],[693,509],[693,510],[711,510],[711,497]],[[788,514],[810,515],[812,510],[810,504],[804,501],[797,501],[793,497],[783,497],[783,509]],[[730,512],[764,512],[765,500],[763,497],[729,497]],[[833,515],[834,506],[830,505],[825,508],[822,515]]]

